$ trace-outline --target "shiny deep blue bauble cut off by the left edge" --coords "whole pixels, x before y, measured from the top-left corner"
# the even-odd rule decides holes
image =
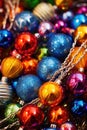
[[[6,29],[0,30],[0,47],[9,47],[13,42],[13,35]]]

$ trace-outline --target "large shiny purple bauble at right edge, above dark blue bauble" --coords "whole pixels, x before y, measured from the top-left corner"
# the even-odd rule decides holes
[[[82,95],[87,91],[87,76],[81,72],[72,73],[68,77],[67,85],[73,94]]]

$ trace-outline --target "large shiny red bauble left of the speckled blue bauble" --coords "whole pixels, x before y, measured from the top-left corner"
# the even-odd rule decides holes
[[[28,57],[37,49],[37,38],[29,32],[20,33],[15,40],[15,49],[23,57]]]

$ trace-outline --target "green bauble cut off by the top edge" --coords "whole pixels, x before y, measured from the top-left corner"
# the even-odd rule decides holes
[[[33,9],[40,3],[40,0],[23,0],[23,6],[28,9]]]

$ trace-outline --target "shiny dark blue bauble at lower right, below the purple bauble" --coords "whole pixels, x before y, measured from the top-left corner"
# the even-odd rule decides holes
[[[86,112],[86,102],[76,99],[72,102],[71,111],[76,115],[83,115]]]

